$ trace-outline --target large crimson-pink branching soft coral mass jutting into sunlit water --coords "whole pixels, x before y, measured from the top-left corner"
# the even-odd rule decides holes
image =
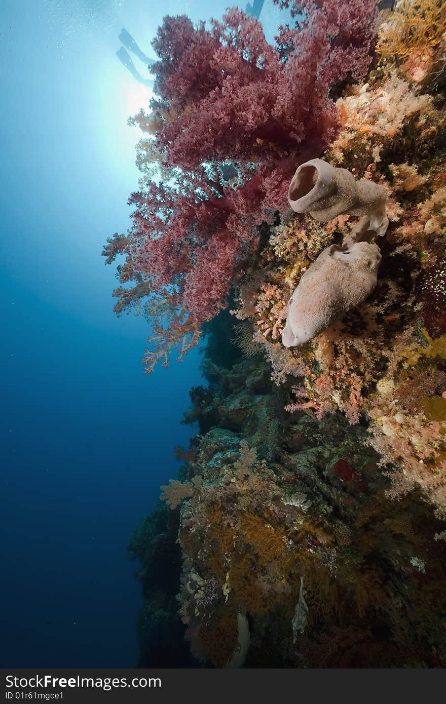
[[[131,120],[144,131],[143,177],[129,200],[125,281],[130,272],[140,280],[132,294],[116,291],[121,310],[138,296],[175,299],[177,324],[164,347],[169,325],[156,324],[148,370],[157,358],[166,362],[175,344],[184,349],[190,329],[224,306],[258,226],[286,210],[290,174],[335,134],[333,82],[362,77],[371,60],[375,1],[361,8],[357,0],[305,2],[295,10],[302,19],[280,30],[278,49],[237,8],[209,29],[167,17],[156,34],[156,97],[149,115]],[[104,252],[109,262],[121,251],[116,244]],[[186,346],[196,340],[188,339]]]

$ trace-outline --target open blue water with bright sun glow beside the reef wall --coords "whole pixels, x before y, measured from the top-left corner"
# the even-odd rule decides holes
[[[126,544],[175,477],[201,376],[196,350],[144,376],[147,322],[112,311],[101,247],[129,226],[139,135],[126,120],[149,99],[115,52],[122,27],[153,56],[164,14],[220,18],[228,4],[2,0],[3,667],[135,662]]]

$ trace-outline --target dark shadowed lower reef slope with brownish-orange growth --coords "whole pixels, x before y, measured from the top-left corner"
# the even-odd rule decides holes
[[[209,326],[199,434],[130,543],[140,666],[442,667],[442,522],[419,488],[390,501],[364,420],[285,411],[292,381],[231,328]]]

